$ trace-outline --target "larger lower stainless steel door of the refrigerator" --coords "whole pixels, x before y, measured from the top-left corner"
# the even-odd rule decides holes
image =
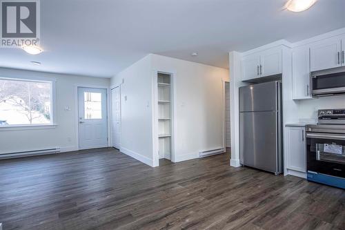
[[[277,112],[248,112],[239,115],[240,162],[277,173]]]

